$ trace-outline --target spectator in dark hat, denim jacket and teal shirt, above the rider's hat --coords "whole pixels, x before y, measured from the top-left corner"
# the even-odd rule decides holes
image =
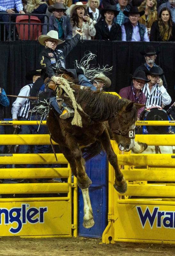
[[[72,38],[72,28],[69,18],[64,15],[66,8],[62,3],[56,3],[48,7],[48,11],[53,15],[49,18],[49,31],[55,30],[61,40],[70,40]]]

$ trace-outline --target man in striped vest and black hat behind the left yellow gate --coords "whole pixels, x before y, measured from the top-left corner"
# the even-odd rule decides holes
[[[37,70],[31,70],[27,76],[26,79],[29,81],[32,81],[31,84],[28,84],[21,88],[20,93],[18,96],[30,96],[31,89],[33,84],[36,82],[36,80],[40,77],[40,72]],[[12,104],[12,119],[13,121],[27,121],[29,120],[29,113],[30,110],[30,100],[27,98],[20,98],[17,97],[15,102]],[[17,125],[13,126],[14,128],[17,128]],[[19,134],[30,134],[30,125],[21,125]],[[20,145],[19,147],[19,153],[29,153],[29,146],[28,145]]]

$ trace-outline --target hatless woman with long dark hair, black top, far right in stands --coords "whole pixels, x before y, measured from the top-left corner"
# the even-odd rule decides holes
[[[158,21],[151,27],[150,41],[175,41],[175,23],[172,21],[170,10],[166,7],[162,8]]]

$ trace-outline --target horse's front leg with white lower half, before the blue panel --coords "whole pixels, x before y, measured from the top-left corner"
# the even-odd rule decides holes
[[[84,222],[83,226],[85,228],[93,227],[94,220],[93,220],[93,213],[91,207],[91,201],[89,198],[89,189],[88,187],[91,185],[91,179],[87,176],[85,171],[85,161],[82,158],[82,152],[76,142],[76,139],[68,134],[66,135],[66,143],[69,146],[71,153],[73,154],[76,166],[77,166],[77,183],[78,186],[82,190],[83,200],[84,200]]]

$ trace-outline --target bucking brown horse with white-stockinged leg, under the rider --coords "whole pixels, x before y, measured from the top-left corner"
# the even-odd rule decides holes
[[[82,157],[81,147],[90,147],[100,144],[106,151],[108,161],[115,170],[114,187],[119,193],[125,193],[127,183],[117,163],[111,139],[115,140],[120,150],[129,151],[134,147],[135,122],[137,109],[142,104],[135,104],[127,99],[90,89],[74,88],[76,102],[84,112],[80,112],[83,127],[71,125],[72,118],[62,120],[59,114],[51,110],[47,118],[47,126],[53,140],[59,144],[60,150],[68,160],[73,174],[77,177],[78,186],[82,190],[84,199],[85,228],[94,225],[91,202],[88,188],[91,180],[85,171],[85,161]],[[72,106],[68,97],[62,95],[64,102]],[[109,136],[109,132],[110,136]],[[97,152],[98,153],[98,152]]]

